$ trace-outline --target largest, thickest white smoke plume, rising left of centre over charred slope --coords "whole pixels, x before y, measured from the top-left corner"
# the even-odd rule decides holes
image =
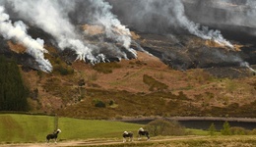
[[[78,5],[82,4],[83,6],[83,3],[89,2],[92,6],[88,7],[96,9],[94,13],[91,13],[95,22],[91,23],[103,25],[106,37],[120,43],[129,53],[133,54],[133,57],[136,57],[136,52],[130,48],[131,34],[129,29],[121,25],[110,12],[111,6],[103,0],[13,0],[8,3],[13,5],[13,9],[19,14],[19,17],[50,33],[61,50],[72,49],[78,55],[77,59],[91,61],[94,64],[105,61],[106,57],[102,54],[105,51],[98,47],[98,43],[94,42],[93,45],[86,41],[83,34],[78,31],[77,26],[71,23],[73,18],[69,18],[70,13],[79,11],[76,10]],[[88,14],[80,15],[73,17],[83,18],[83,15],[86,17]],[[99,43],[107,44],[103,41]],[[127,58],[126,53],[114,45],[108,48],[108,50],[110,49],[112,49],[110,52],[116,54],[116,58]]]

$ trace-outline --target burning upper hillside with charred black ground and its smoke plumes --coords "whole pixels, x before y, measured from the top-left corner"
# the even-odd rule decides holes
[[[54,70],[47,58],[53,53],[46,46],[53,46],[69,63],[134,59],[142,51],[177,70],[248,67],[256,63],[255,44],[222,26],[254,29],[254,5],[250,0],[3,0],[0,33],[9,42],[0,50],[27,54],[36,64],[25,65],[46,73]],[[38,30],[44,35],[36,35]],[[242,35],[256,38],[254,32]]]

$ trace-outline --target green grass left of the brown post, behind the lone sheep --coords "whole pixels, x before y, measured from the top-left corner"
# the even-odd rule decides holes
[[[50,128],[53,128],[53,121],[50,117],[0,115],[0,142],[42,140],[45,136],[41,134],[46,134]]]

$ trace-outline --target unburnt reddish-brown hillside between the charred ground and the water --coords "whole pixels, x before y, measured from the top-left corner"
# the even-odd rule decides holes
[[[74,70],[22,71],[31,89],[32,112],[76,118],[150,116],[249,117],[255,104],[256,80],[244,68],[172,70],[154,56],[95,66],[75,62]],[[58,66],[58,65],[57,65]],[[236,78],[218,77],[228,73]],[[246,75],[244,75],[246,74]],[[251,75],[249,75],[251,74]],[[97,106],[99,102],[104,106]]]

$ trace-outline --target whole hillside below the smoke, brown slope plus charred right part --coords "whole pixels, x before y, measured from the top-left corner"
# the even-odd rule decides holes
[[[92,27],[87,25],[86,30]],[[31,31],[47,36],[37,28]],[[101,33],[96,32],[92,42]],[[7,57],[21,63],[20,71],[31,91],[32,113],[83,119],[255,117],[254,67],[237,66],[235,60],[236,54],[244,54],[246,49],[253,53],[252,45],[243,47],[236,42],[235,50],[229,50],[193,35],[180,35],[179,42],[135,31],[132,36],[136,58],[95,65],[74,60],[70,50],[59,53],[49,42],[45,44],[49,52],[45,57],[52,64],[51,73],[34,69],[36,65],[23,53],[23,45],[4,41],[3,46],[8,50],[4,52]],[[223,60],[216,51],[223,54]],[[174,59],[171,54],[175,54]]]

